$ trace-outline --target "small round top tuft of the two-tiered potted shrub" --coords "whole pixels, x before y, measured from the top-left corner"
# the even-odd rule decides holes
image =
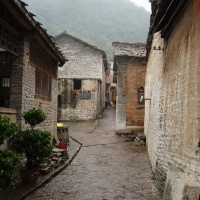
[[[40,108],[32,108],[25,111],[22,114],[26,123],[28,123],[31,128],[34,128],[37,124],[40,124],[46,119],[46,114]]]

